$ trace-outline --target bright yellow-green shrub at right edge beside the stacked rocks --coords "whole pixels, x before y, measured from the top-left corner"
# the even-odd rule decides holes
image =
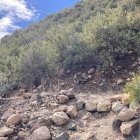
[[[130,95],[133,105],[140,103],[140,75],[136,75],[131,82],[126,84],[125,91]]]

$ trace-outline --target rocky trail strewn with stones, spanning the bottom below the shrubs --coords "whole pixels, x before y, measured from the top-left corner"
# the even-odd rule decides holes
[[[133,140],[134,123],[121,128],[130,138],[112,129],[118,112],[122,122],[137,120],[135,110],[126,108],[127,101],[126,94],[95,95],[72,89],[1,98],[0,140]]]

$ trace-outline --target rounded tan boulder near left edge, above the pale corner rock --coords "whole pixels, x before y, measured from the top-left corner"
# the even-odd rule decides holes
[[[7,119],[6,125],[15,126],[19,124],[20,122],[22,122],[21,116],[19,114],[14,114]]]

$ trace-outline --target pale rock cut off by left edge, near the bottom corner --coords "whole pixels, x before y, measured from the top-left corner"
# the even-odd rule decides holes
[[[0,128],[0,137],[9,136],[13,133],[14,133],[14,130],[12,128],[8,128],[8,127]]]

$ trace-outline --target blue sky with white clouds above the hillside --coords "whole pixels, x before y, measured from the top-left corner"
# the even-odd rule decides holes
[[[0,38],[80,0],[0,0]]]

